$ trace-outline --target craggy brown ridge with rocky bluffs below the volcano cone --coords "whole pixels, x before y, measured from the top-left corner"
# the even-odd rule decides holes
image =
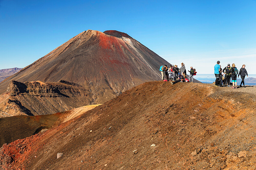
[[[0,117],[53,114],[93,103],[84,87],[67,82],[10,82],[0,95]]]

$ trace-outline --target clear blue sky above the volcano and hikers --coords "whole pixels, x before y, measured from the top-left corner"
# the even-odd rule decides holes
[[[0,0],[0,69],[25,67],[82,31],[125,32],[172,64],[256,74],[256,1]]]

